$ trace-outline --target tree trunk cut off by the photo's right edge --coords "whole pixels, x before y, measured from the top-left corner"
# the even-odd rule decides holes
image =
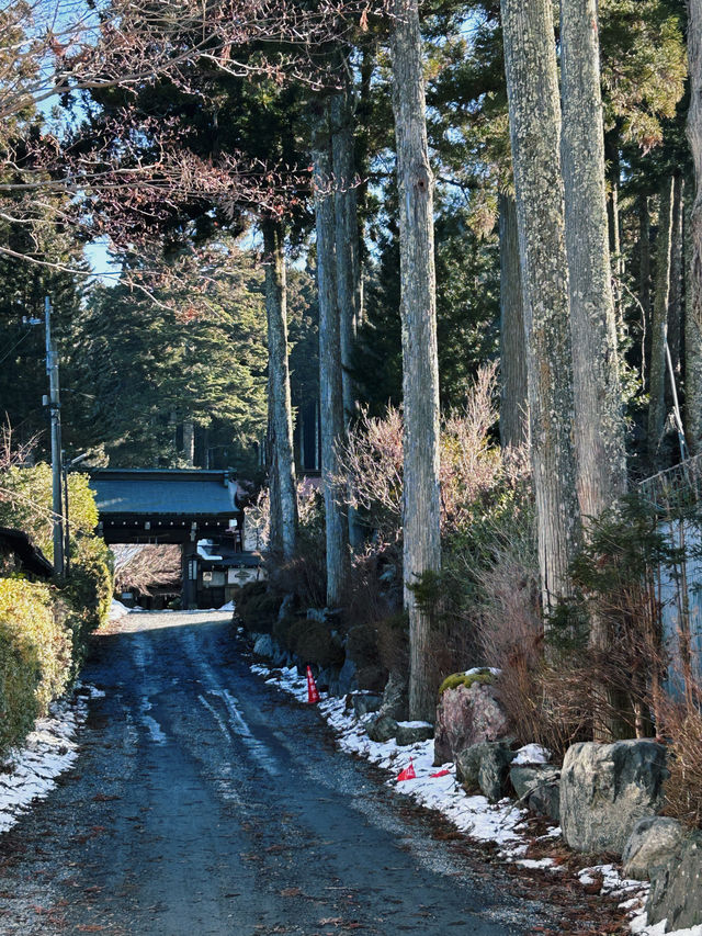
[[[702,452],[702,0],[688,0],[690,109],[688,140],[694,160],[694,202],[690,215],[691,258],[686,305],[686,403],[688,442]]]

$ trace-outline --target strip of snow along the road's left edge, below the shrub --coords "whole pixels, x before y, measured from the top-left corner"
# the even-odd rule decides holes
[[[24,747],[13,751],[0,765],[0,833],[5,832],[35,799],[45,799],[56,778],[78,757],[76,732],[88,712],[88,697],[104,695],[92,686],[78,686],[71,700],[50,706],[38,719]]]

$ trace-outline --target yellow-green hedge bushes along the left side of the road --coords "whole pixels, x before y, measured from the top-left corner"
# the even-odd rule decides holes
[[[111,553],[94,534],[98,511],[86,475],[69,475],[70,572],[36,580],[11,556],[0,566],[0,760],[76,681],[89,635],[112,600]],[[47,464],[0,471],[0,526],[26,532],[53,556]]]

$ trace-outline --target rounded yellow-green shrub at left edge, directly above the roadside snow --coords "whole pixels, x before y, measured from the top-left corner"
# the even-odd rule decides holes
[[[0,752],[22,742],[70,678],[70,636],[53,611],[52,589],[0,579]]]

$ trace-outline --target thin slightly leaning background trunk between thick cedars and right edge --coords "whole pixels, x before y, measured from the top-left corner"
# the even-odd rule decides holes
[[[665,454],[660,449],[666,422],[666,341],[668,337],[668,297],[670,295],[670,246],[672,233],[672,188],[669,178],[660,191],[658,235],[656,237],[656,282],[650,320],[650,362],[648,364],[648,458],[660,470]]]

